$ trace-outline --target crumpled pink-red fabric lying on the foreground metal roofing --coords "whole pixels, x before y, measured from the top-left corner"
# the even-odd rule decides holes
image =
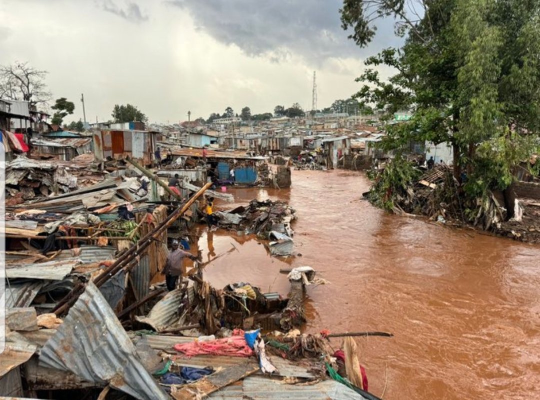
[[[184,353],[188,357],[207,354],[214,356],[249,357],[254,354],[244,339],[244,331],[240,329],[235,329],[233,336],[224,337],[224,339],[175,344],[174,350],[180,351],[180,353]]]

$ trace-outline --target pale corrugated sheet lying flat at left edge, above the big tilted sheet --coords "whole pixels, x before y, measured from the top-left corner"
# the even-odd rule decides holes
[[[32,278],[62,280],[75,266],[81,263],[80,259],[55,260],[40,264],[10,264],[5,268],[7,278]]]

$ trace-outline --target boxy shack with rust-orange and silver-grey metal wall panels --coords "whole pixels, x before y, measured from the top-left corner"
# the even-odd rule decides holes
[[[159,132],[145,130],[94,130],[94,155],[97,162],[129,156],[144,165],[152,164],[157,148]]]

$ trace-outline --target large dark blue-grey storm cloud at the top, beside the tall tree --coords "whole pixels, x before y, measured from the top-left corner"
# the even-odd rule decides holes
[[[171,0],[187,10],[198,29],[249,56],[273,61],[300,54],[311,61],[362,57],[399,43],[392,20],[382,21],[370,49],[360,49],[341,29],[340,0]],[[375,50],[373,50],[375,49]]]

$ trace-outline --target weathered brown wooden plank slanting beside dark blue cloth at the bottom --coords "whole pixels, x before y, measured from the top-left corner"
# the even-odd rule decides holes
[[[197,400],[218,391],[221,388],[240,381],[246,376],[252,375],[259,370],[259,364],[254,358],[246,362],[232,365],[231,367],[218,370],[193,384],[184,385],[179,389],[173,388],[171,395],[176,400]]]

